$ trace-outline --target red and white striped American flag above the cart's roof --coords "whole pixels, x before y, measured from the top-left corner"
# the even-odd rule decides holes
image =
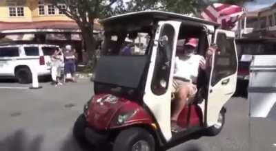
[[[201,17],[207,21],[221,24],[222,29],[230,30],[235,27],[235,23],[237,23],[242,14],[244,14],[244,9],[237,5],[213,3],[201,12]]]

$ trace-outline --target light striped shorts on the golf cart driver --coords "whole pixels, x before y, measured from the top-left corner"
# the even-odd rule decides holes
[[[174,78],[172,80],[172,93],[178,93],[181,88],[188,89],[189,98],[195,97],[195,94],[197,93],[197,86],[195,86],[195,84]]]

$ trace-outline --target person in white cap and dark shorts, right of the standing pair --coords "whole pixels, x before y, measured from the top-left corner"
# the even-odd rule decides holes
[[[71,74],[72,82],[77,82],[75,80],[75,54],[72,50],[71,45],[66,45],[66,50],[64,52],[64,80],[66,80],[66,75]]]

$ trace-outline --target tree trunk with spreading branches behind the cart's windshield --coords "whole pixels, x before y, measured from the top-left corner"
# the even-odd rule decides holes
[[[66,9],[59,8],[59,10],[79,25],[88,58],[92,61],[91,65],[95,65],[94,21],[110,10],[110,6],[116,0],[47,0],[46,2],[56,5],[57,8],[59,8],[59,3],[66,4]]]

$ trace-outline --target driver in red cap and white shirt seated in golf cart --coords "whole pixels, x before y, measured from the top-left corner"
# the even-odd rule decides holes
[[[199,68],[206,69],[206,60],[203,56],[195,54],[197,38],[185,40],[184,47],[177,51],[175,58],[175,73],[172,81],[172,92],[175,93],[174,110],[172,111],[172,124],[177,121],[179,114],[188,101],[197,93],[197,75]]]

